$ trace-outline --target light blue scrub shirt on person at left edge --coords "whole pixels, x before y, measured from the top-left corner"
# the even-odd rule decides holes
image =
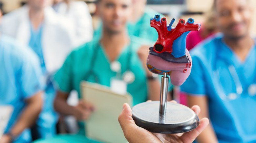
[[[25,100],[44,89],[39,60],[29,47],[23,47],[10,37],[0,36],[0,105],[14,107],[5,133],[22,113]],[[15,143],[31,141],[30,129],[25,129]]]

